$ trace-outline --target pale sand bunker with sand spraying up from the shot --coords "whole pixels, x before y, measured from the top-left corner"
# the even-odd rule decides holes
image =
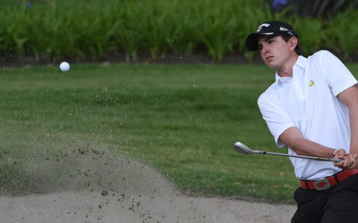
[[[137,162],[92,149],[69,153],[30,165],[28,178],[41,185],[0,196],[0,221],[279,223],[289,222],[295,211],[286,204],[186,196]]]

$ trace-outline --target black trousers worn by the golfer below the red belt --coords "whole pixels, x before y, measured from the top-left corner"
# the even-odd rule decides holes
[[[358,174],[324,191],[299,187],[294,200],[292,223],[358,223]]]

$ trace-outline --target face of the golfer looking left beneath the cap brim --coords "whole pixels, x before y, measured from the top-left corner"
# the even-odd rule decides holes
[[[281,36],[259,37],[258,45],[262,60],[274,70],[286,65],[293,50],[290,41],[286,42]]]

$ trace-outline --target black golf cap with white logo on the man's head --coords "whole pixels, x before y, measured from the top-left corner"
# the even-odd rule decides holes
[[[267,21],[262,23],[256,32],[251,33],[249,37],[246,38],[246,47],[250,51],[256,51],[259,49],[258,40],[260,36],[275,37],[282,34],[298,37],[290,24],[283,21]]]

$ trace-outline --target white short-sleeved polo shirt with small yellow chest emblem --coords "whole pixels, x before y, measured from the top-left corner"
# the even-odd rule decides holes
[[[349,153],[349,111],[337,95],[357,84],[352,73],[328,51],[299,56],[292,78],[280,77],[260,95],[259,108],[278,147],[278,137],[291,127],[306,139]],[[288,148],[289,154],[295,154]],[[329,161],[290,158],[297,178],[316,180],[340,171]]]

